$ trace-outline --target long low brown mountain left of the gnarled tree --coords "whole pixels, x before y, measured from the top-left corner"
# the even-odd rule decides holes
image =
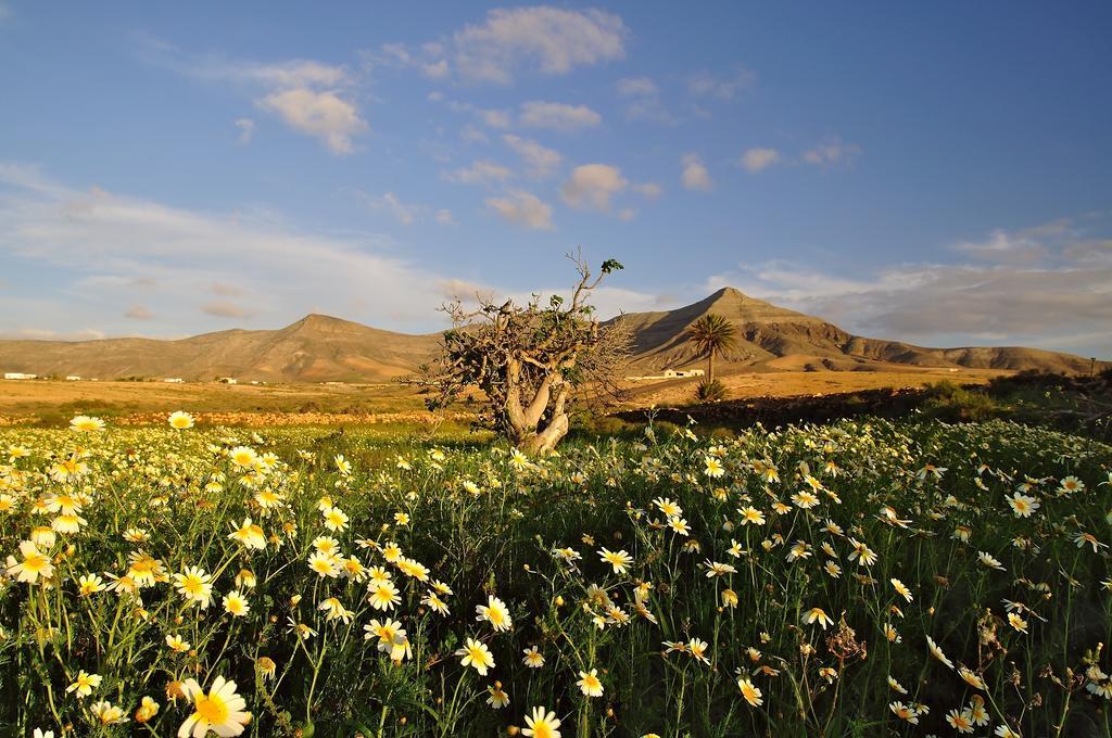
[[[101,379],[384,381],[428,361],[438,342],[439,335],[395,333],[310,315],[279,330],[224,330],[176,341],[0,341],[0,369]]]

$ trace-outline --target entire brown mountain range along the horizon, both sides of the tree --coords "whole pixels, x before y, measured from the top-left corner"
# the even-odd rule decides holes
[[[1025,348],[933,349],[854,336],[821,318],[780,308],[733,288],[665,312],[623,316],[634,332],[634,367],[646,371],[701,365],[687,328],[715,312],[737,327],[724,370],[840,369],[883,371],[898,366],[1089,371],[1089,359]],[[310,315],[279,330],[225,330],[162,341],[0,340],[0,371],[87,378],[181,377],[240,381],[386,381],[428,361],[439,335],[410,336]]]

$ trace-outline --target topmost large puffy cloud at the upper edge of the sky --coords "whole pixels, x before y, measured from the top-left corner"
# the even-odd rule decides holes
[[[600,10],[496,9],[453,36],[453,58],[464,79],[506,84],[523,69],[563,74],[622,59],[627,36],[619,17]]]

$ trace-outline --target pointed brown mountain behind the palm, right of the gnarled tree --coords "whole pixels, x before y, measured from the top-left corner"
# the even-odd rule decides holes
[[[881,370],[913,365],[1062,373],[1090,369],[1089,359],[1041,349],[935,349],[854,336],[821,318],[757,300],[732,287],[684,308],[623,316],[634,333],[634,365],[659,370],[702,361],[687,328],[708,313],[726,318],[737,329],[736,346],[723,357],[727,368]]]

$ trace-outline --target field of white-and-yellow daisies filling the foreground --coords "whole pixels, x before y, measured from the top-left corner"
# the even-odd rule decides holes
[[[0,736],[1109,736],[1112,449],[0,429]],[[36,731],[40,732],[36,732]]]

